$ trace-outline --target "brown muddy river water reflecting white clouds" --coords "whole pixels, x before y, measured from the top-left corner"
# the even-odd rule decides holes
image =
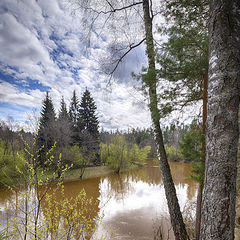
[[[181,210],[193,206],[197,196],[197,184],[189,179],[191,166],[185,163],[170,163]],[[65,196],[74,197],[85,189],[87,196],[97,201],[91,217],[103,216],[94,239],[153,239],[154,226],[161,224],[164,239],[173,239],[168,219],[168,207],[162,184],[159,164],[148,161],[139,169],[119,175],[76,180],[64,183]],[[18,201],[18,194],[0,189],[0,217],[4,220],[4,209],[11,201]],[[194,214],[194,207],[191,214]],[[189,213],[189,212],[188,212]]]

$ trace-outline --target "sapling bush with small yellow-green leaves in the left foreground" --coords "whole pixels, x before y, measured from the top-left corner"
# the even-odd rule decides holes
[[[18,202],[13,201],[11,209],[6,209],[7,228],[2,236],[9,235],[13,240],[90,239],[101,220],[94,210],[98,210],[98,202],[87,198],[84,189],[77,196],[67,198],[62,177],[69,167],[62,166],[60,176],[54,172],[52,177],[58,181],[49,184],[53,179],[44,177],[47,169],[36,164],[39,155],[36,141],[31,145],[24,141],[24,146],[24,154],[20,156],[24,168],[15,169],[24,176],[22,190],[9,188],[18,192]],[[46,154],[46,166],[61,163],[61,154],[59,159],[53,155],[54,147]],[[79,154],[79,149],[72,148],[70,152]]]

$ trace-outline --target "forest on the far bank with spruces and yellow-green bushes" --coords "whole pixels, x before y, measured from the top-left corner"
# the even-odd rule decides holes
[[[24,172],[26,147],[34,146],[38,152],[36,169],[47,169],[62,175],[65,166],[78,169],[82,178],[87,167],[110,166],[119,173],[136,164],[143,165],[146,159],[157,159],[153,131],[148,129],[128,129],[105,131],[99,130],[96,114],[97,106],[89,90],[85,90],[81,101],[76,91],[67,108],[62,97],[58,114],[53,101],[46,93],[42,101],[41,117],[36,122],[36,133],[14,131],[14,122],[1,122],[1,173],[0,185],[8,186],[20,180],[16,171]],[[163,128],[165,148],[170,161],[192,162],[197,167],[200,163],[201,126],[197,121],[190,125],[172,124]],[[49,165],[48,153],[54,157]],[[59,162],[59,159],[61,161]]]

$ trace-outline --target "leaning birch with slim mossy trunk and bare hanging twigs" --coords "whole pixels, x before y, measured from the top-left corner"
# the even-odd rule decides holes
[[[163,184],[168,202],[170,219],[176,240],[188,239],[176,195],[176,189],[167,161],[166,151],[164,149],[162,131],[160,127],[155,65],[155,46],[153,38],[153,19],[156,12],[154,13],[153,11],[153,3],[151,0],[78,0],[77,2],[75,1],[75,3],[77,3],[78,8],[84,9],[87,13],[88,17],[85,19],[84,23],[88,23],[89,29],[92,29],[93,25],[99,19],[103,23],[101,31],[103,31],[104,27],[107,26],[106,30],[108,32],[111,31],[111,33],[115,34],[115,36],[117,36],[116,34],[120,34],[118,35],[118,38],[112,37],[113,41],[110,50],[113,52],[115,59],[112,61],[111,67],[109,69],[106,68],[108,73],[113,74],[118,68],[121,61],[130,51],[138,47],[143,42],[145,42],[146,44],[148,68],[147,73],[142,78],[142,84],[148,91],[148,97],[150,102],[149,109],[151,112],[155,141],[157,144],[159,162],[161,167],[161,173],[163,176]],[[109,20],[111,20],[111,24],[108,24]],[[134,24],[130,24],[133,23],[132,20],[135,21]],[[138,29],[136,29],[137,27]],[[133,38],[130,38],[131,34],[133,34]],[[119,42],[119,39],[122,40],[124,36],[125,42]]]

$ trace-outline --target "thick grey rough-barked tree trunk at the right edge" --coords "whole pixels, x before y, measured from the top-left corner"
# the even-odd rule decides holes
[[[234,239],[240,93],[240,1],[210,0],[202,240]]]

